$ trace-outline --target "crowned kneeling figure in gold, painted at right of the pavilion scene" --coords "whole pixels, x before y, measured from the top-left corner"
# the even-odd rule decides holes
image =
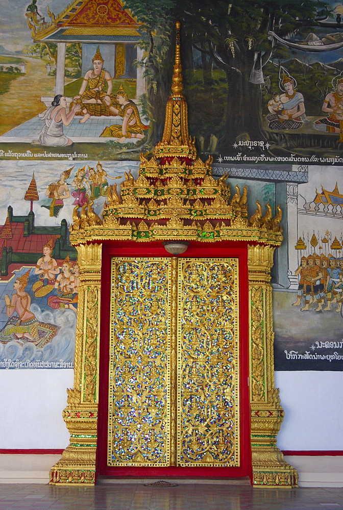
[[[113,108],[113,110],[115,115],[122,117],[122,125],[113,124],[110,127],[105,127],[100,136],[113,136],[114,138],[119,138],[121,143],[126,138],[144,138],[143,132],[149,129],[149,125],[141,122],[138,108],[131,99],[128,99],[122,84],[120,84],[116,99],[119,106],[118,108]]]

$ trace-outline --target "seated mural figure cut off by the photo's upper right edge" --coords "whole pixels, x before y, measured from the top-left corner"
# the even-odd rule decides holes
[[[325,133],[341,133],[343,128],[343,77],[333,87],[334,90],[327,94],[322,107],[323,112],[329,113],[329,116],[313,122],[314,129]]]

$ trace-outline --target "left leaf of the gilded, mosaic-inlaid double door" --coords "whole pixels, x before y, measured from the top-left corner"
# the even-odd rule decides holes
[[[112,259],[109,466],[168,466],[170,259]]]

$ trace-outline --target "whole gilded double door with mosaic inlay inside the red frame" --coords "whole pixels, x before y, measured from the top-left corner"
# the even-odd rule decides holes
[[[112,259],[108,466],[239,466],[238,259]]]

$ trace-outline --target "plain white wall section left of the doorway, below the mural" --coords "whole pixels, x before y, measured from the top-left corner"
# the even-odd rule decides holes
[[[73,386],[72,369],[0,370],[0,448],[65,448],[62,411]]]

